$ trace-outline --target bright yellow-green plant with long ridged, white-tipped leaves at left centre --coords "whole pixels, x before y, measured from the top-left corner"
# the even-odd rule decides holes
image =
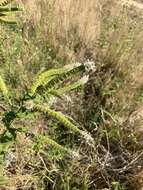
[[[35,112],[42,112],[48,114],[50,117],[55,118],[60,123],[62,123],[68,130],[71,132],[81,135],[87,142],[89,140],[89,136],[85,131],[79,129],[73,121],[71,121],[67,116],[62,114],[61,112],[55,111],[48,106],[48,103],[51,101],[53,96],[58,98],[63,96],[64,93],[67,93],[71,90],[77,89],[83,86],[87,82],[87,77],[83,77],[81,79],[76,79],[76,82],[71,81],[70,84],[66,86],[66,80],[70,79],[71,75],[76,77],[79,72],[84,71],[84,66],[82,64],[68,65],[64,68],[60,69],[52,69],[48,70],[36,77],[34,84],[31,87],[30,92],[24,92],[18,100],[19,104],[15,105],[15,97],[8,97],[8,90],[6,84],[1,78],[1,86],[0,89],[3,94],[8,98],[9,110],[6,110],[3,115],[3,124],[5,126],[5,131],[0,136],[0,142],[6,143],[9,141],[13,141],[16,139],[17,132],[23,132],[21,128],[12,127],[12,123],[18,119],[22,119],[25,113],[34,114]],[[64,83],[65,82],[65,83]],[[49,85],[49,83],[51,83]],[[61,86],[60,86],[60,85]],[[48,86],[48,87],[46,87]],[[38,88],[42,89],[42,92]],[[38,90],[37,90],[38,89]],[[46,99],[46,94],[48,99]],[[10,102],[10,104],[9,104]],[[12,103],[11,103],[12,102]],[[48,136],[43,137],[46,138],[46,141],[52,145],[54,148],[64,150],[65,153],[71,153],[72,151],[66,150],[66,148],[62,147],[54,140],[50,139]],[[45,140],[44,140],[45,142]]]

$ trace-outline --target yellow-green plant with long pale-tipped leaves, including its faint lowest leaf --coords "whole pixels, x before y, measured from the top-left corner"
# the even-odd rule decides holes
[[[2,115],[4,130],[0,134],[0,155],[3,160],[0,165],[2,168],[4,168],[4,155],[9,152],[10,147],[16,142],[17,134],[21,133],[27,135],[30,130],[30,128],[22,128],[21,126],[16,127],[14,122],[20,122],[21,120],[28,118],[30,120],[35,120],[36,114],[39,113],[43,113],[44,115],[48,115],[51,118],[56,119],[59,124],[65,126],[68,133],[73,133],[73,135],[77,137],[80,136],[88,145],[93,145],[91,144],[93,143],[91,142],[91,137],[86,131],[79,129],[79,126],[77,126],[72,119],[59,111],[55,111],[48,105],[53,96],[56,98],[61,98],[64,93],[75,90],[87,82],[87,77],[79,79],[79,73],[81,71],[84,71],[82,64],[66,66],[55,70],[48,70],[38,75],[35,79],[36,82],[32,85],[30,90],[25,90],[19,99],[16,99],[15,94],[10,93],[7,90],[4,80],[0,78],[0,89],[3,95],[7,98],[7,101],[5,100],[6,109],[3,111]],[[71,75],[76,78],[76,81],[72,82]],[[67,79],[68,84],[66,85]],[[50,86],[46,87],[46,85],[49,85],[50,82]],[[45,87],[43,89],[43,93],[40,92],[41,89],[38,89],[39,87]],[[46,96],[48,98],[46,98]],[[32,139],[34,146],[32,146],[31,149],[35,153],[42,154],[46,157],[48,156],[51,160],[53,160],[53,158],[56,158],[56,160],[62,160],[65,156],[70,158],[79,157],[79,154],[73,151],[70,146],[56,142],[57,140],[53,140],[49,134],[35,135],[32,133],[32,135],[34,137]],[[4,175],[2,174],[2,176]],[[4,177],[2,179],[3,180],[2,182],[0,181],[0,185],[8,182],[7,180],[4,180]]]

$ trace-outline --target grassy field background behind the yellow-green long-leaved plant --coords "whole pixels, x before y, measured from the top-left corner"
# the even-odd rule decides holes
[[[15,15],[17,25],[0,25],[0,74],[13,104],[37,73],[94,62],[84,87],[52,105],[93,141],[46,113],[23,114],[12,124],[22,129],[16,139],[0,140],[0,189],[142,190],[143,2],[17,0],[12,5],[23,11]],[[7,101],[1,93],[1,134]]]

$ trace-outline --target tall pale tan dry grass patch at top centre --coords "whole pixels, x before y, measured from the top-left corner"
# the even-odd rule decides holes
[[[75,51],[83,56],[85,48],[92,48],[99,37],[99,0],[26,0],[22,3],[27,10],[25,18],[33,25],[39,25],[40,20],[46,38],[70,58],[75,56]]]

